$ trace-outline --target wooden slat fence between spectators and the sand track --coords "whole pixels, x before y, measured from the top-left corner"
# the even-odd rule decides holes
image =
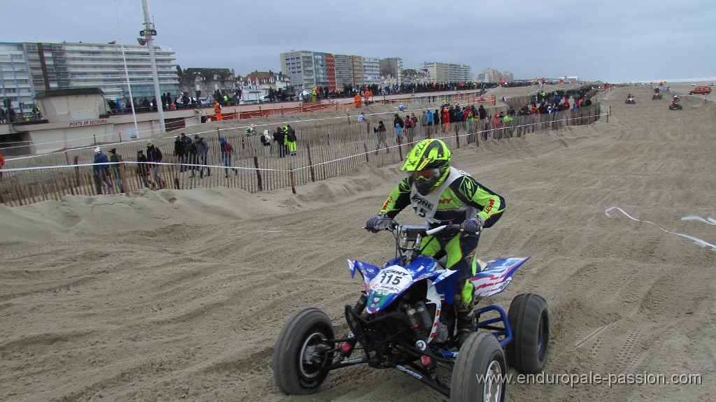
[[[493,127],[489,119],[453,123],[448,132],[442,132],[442,127],[438,126],[427,129],[416,127],[415,132],[405,130],[400,144],[389,129],[386,136],[390,152],[385,152],[386,149],[376,152],[377,138],[373,131],[376,122],[357,123],[344,119],[316,122],[295,127],[298,137],[296,156],[285,157],[279,157],[276,144],[272,145],[271,153],[266,157],[260,137],[248,137],[239,129],[223,129],[221,136],[226,137],[234,149],[229,167],[224,166],[221,160],[219,132],[203,136],[210,148],[207,167],[211,169],[211,175],[207,174],[207,167],[203,167],[204,174],[201,175],[199,166],[193,166],[197,170],[192,175],[192,166],[185,166],[184,170],[177,157],[173,156],[174,143],[171,139],[155,140],[154,144],[161,149],[165,163],[159,165],[160,180],[155,180],[150,169],[147,185],[153,190],[164,182],[164,188],[177,190],[228,187],[252,193],[271,191],[346,175],[363,163],[383,167],[401,162],[412,148],[412,143],[427,137],[440,138],[451,149],[475,143],[473,146],[480,146],[480,141],[486,139],[522,137],[565,126],[591,124],[600,115],[601,106],[594,102],[589,107],[564,112],[516,116],[507,127],[503,124]],[[138,144],[112,146],[117,148],[123,162],[118,166],[119,177],[116,173],[110,175],[110,193],[120,193],[120,187],[125,192],[145,187],[140,175],[137,175],[135,162],[137,149],[145,148]],[[102,147],[103,152],[108,152],[108,149]],[[102,188],[100,178],[92,175],[93,160],[90,148],[8,161],[0,180],[0,203],[16,206],[61,200],[64,195],[102,194],[106,190]]]

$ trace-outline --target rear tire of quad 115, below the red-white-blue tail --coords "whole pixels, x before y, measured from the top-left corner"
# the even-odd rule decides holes
[[[512,328],[512,342],[505,347],[507,362],[519,373],[539,373],[547,360],[549,348],[549,308],[538,295],[517,295],[510,304],[507,319]]]

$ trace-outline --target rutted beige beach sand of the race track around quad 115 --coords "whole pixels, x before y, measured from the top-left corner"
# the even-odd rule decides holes
[[[525,89],[515,89],[518,93]],[[637,104],[626,105],[632,90]],[[515,96],[517,96],[515,95]],[[483,259],[531,255],[505,292],[549,303],[546,373],[697,374],[701,385],[508,386],[506,401],[697,401],[716,393],[716,108],[671,112],[648,87],[601,94],[606,119],[455,149],[505,197]],[[360,229],[403,177],[366,165],[298,188],[142,190],[0,206],[0,401],[444,401],[397,371],[357,366],[296,398],[271,356],[294,311],[337,333],[390,235]],[[410,210],[402,222],[420,222]],[[513,370],[511,370],[514,373]]]

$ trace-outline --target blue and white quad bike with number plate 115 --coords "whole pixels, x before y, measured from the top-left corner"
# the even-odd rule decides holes
[[[365,290],[356,305],[345,306],[350,332],[342,338],[336,338],[331,320],[317,308],[298,311],[286,321],[276,339],[272,363],[281,391],[315,393],[329,371],[367,363],[372,368],[395,368],[453,402],[501,402],[507,363],[520,373],[542,371],[550,317],[547,302],[533,293],[517,295],[508,313],[498,305],[475,310],[475,333],[458,351],[457,313],[452,304],[458,273],[420,254],[420,243],[441,230],[460,230],[459,225],[428,229],[392,221],[374,229],[392,233],[395,258],[382,268],[348,260],[351,276],[359,272]],[[487,263],[473,259],[479,271],[470,279],[475,300],[505,290],[528,259],[500,258]],[[363,353],[351,358],[357,350]]]

